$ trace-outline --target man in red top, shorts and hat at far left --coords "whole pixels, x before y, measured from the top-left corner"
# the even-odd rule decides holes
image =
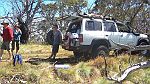
[[[11,60],[10,42],[13,40],[13,30],[9,27],[9,22],[3,21],[3,43],[0,49],[0,60],[2,60],[3,51],[7,50],[9,54],[9,60]]]

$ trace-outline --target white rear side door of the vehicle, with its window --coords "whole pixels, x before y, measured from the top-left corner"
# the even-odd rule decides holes
[[[105,38],[111,43],[111,48],[117,48],[117,45],[114,44],[119,42],[119,32],[117,32],[116,24],[114,22],[104,21],[104,34]],[[114,41],[114,42],[113,42]]]

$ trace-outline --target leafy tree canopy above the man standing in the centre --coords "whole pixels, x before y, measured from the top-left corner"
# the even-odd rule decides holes
[[[76,16],[84,12],[86,7],[86,0],[56,0],[54,3],[42,4],[41,14],[49,26],[57,22],[61,28],[66,28],[68,21],[65,21],[65,17]]]

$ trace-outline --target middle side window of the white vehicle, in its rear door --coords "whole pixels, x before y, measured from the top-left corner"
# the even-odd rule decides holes
[[[113,22],[104,22],[104,31],[116,32],[116,26]]]

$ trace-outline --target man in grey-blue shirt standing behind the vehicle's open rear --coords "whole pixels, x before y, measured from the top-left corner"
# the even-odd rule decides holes
[[[53,44],[52,44],[52,54],[50,55],[49,59],[55,59],[56,54],[59,51],[59,45],[62,42],[62,33],[58,29],[58,25],[53,25]]]

